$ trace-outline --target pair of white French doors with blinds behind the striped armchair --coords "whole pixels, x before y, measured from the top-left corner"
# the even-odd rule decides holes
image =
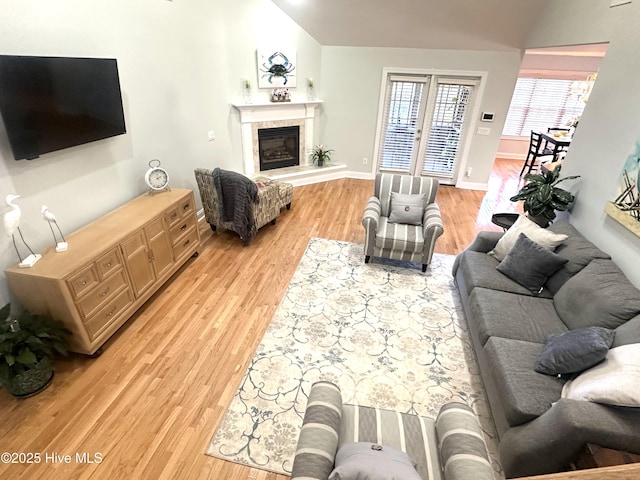
[[[455,182],[477,78],[387,77],[378,171]]]

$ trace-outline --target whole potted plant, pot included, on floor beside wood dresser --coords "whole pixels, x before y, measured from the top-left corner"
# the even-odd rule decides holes
[[[67,354],[70,332],[62,322],[28,311],[10,318],[0,309],[0,385],[16,397],[44,389],[53,378],[51,359]]]

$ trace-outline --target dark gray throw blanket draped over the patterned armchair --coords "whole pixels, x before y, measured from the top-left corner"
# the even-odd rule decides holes
[[[260,201],[258,186],[244,175],[216,168],[213,185],[218,192],[219,215],[223,222],[233,222],[233,231],[245,245],[256,236],[254,204]]]

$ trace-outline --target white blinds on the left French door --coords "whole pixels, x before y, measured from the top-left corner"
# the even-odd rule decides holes
[[[422,95],[425,78],[390,77],[384,103],[384,130],[380,167],[409,171],[414,156],[416,133],[422,123]]]

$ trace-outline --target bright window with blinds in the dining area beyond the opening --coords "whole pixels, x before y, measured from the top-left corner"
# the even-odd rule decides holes
[[[518,78],[502,135],[528,137],[531,130],[567,125],[585,104],[575,82],[552,78]]]

